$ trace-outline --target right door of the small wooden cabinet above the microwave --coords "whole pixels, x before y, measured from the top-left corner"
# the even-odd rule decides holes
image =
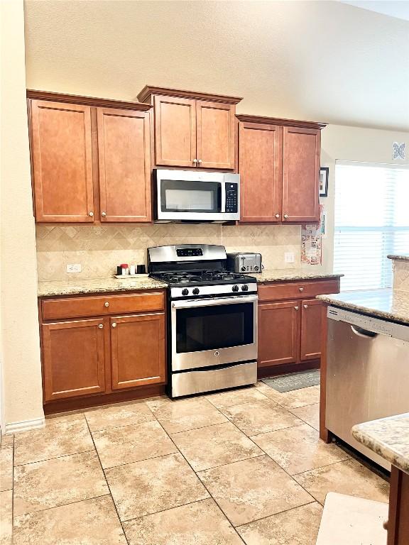
[[[197,166],[234,169],[234,111],[232,104],[196,101]]]

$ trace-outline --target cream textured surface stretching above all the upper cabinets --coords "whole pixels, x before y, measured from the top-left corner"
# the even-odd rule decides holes
[[[32,89],[234,94],[238,111],[409,129],[409,22],[338,1],[28,0]]]

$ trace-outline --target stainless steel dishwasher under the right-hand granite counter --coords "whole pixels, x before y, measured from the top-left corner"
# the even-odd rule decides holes
[[[409,326],[328,307],[327,406],[332,434],[383,468],[391,464],[354,439],[360,422],[409,412]]]

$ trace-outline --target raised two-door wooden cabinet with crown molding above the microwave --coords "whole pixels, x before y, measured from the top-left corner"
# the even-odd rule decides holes
[[[154,106],[156,165],[234,170],[240,98],[145,87],[138,100]]]

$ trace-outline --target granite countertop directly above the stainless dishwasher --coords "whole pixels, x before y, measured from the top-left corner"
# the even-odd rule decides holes
[[[318,295],[317,299],[342,309],[409,325],[409,292],[398,290],[359,290]]]

